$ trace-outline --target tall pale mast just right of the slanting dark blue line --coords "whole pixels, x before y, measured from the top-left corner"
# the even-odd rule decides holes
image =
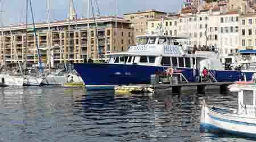
[[[49,62],[49,73],[51,73],[51,2],[48,0],[48,62]]]

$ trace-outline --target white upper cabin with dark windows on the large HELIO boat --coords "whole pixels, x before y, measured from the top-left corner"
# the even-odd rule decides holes
[[[127,52],[107,54],[108,63],[138,64],[144,66],[173,66],[177,68],[201,68],[204,66],[221,69],[214,52],[197,51],[189,54],[192,48],[181,45],[177,40],[187,40],[184,37],[146,35],[137,37],[137,45],[130,46]],[[212,62],[212,63],[210,63]]]

